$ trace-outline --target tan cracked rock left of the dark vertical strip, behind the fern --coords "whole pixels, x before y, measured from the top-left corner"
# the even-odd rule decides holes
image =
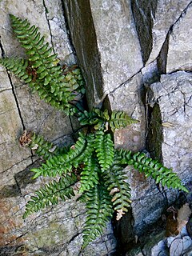
[[[76,62],[68,38],[61,1],[0,2],[0,49],[2,56],[25,56],[10,28],[9,14],[28,18],[39,27],[45,40],[54,46],[58,58],[66,64]],[[62,202],[22,220],[29,196],[46,180],[32,180],[30,169],[38,166],[30,150],[22,148],[18,138],[24,129],[34,130],[58,144],[71,144],[70,137],[78,128],[73,118],[54,110],[28,86],[0,70],[0,255],[81,255],[82,226],[85,207],[72,201]],[[40,161],[41,162],[41,161]],[[109,226],[101,238],[92,243],[83,255],[105,255],[114,251],[116,241]]]

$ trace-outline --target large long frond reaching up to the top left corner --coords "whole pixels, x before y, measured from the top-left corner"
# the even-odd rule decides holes
[[[73,108],[70,101],[76,97],[73,91],[77,89],[78,82],[74,75],[62,74],[61,66],[55,66],[57,54],[48,43],[44,43],[44,37],[40,36],[38,28],[30,26],[30,22],[10,15],[14,34],[18,41],[26,48],[31,68],[35,72],[35,83],[30,83],[39,96],[49,102],[50,105],[62,109],[66,114]],[[80,79],[79,74],[76,78]],[[82,82],[81,82],[82,83]],[[36,86],[37,85],[37,86]]]

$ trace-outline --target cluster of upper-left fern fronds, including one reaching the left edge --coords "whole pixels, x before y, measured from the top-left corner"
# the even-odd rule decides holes
[[[63,74],[57,54],[53,54],[47,42],[44,43],[38,27],[30,26],[30,22],[14,15],[10,15],[10,19],[14,34],[26,49],[29,59],[5,58],[0,63],[23,82],[29,83],[41,99],[66,114],[73,114],[76,100],[85,92],[80,70],[75,66]]]

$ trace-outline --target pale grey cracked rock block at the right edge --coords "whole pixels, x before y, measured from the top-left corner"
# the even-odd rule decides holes
[[[151,104],[158,103],[162,122],[162,158],[182,179],[191,175],[192,75],[179,71],[162,75],[161,82],[150,86]]]

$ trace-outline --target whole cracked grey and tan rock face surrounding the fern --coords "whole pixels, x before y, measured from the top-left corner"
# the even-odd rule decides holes
[[[124,110],[140,121],[115,132],[116,147],[150,151],[173,167],[187,186],[192,180],[191,8],[186,0],[22,0],[19,4],[4,0],[0,2],[0,51],[2,57],[25,56],[12,34],[8,14],[28,18],[45,34],[62,63],[78,61],[90,108]],[[110,223],[101,238],[80,252],[85,208],[75,198],[22,221],[27,198],[45,182],[31,179],[30,169],[41,159],[18,145],[22,130],[70,144],[78,123],[73,119],[72,127],[70,118],[40,101],[2,66],[0,114],[0,255],[112,255],[116,240]],[[150,256],[152,251],[155,256],[158,246],[145,246],[142,237],[161,223],[157,220],[163,211],[180,195],[130,168],[127,178],[133,203],[115,224],[121,238],[117,254]],[[189,189],[186,201],[191,206]],[[179,248],[188,254],[190,246],[186,252],[183,245],[191,244],[189,234],[179,239]],[[155,242],[167,251],[162,241],[157,235]],[[136,244],[137,249],[130,252]],[[174,251],[173,243],[169,248]]]

